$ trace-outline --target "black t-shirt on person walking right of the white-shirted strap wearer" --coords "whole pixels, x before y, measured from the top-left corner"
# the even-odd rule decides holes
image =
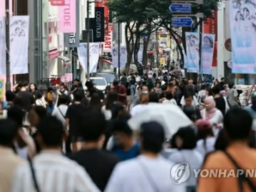
[[[75,138],[81,137],[81,133],[79,130],[79,122],[82,118],[82,114],[87,111],[87,108],[83,104],[72,104],[68,106],[68,110],[66,112],[66,118],[69,119],[69,133],[70,136],[74,136]]]

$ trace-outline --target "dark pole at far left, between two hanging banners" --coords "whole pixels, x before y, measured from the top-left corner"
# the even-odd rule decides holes
[[[9,0],[5,0],[5,11],[6,11],[6,23],[5,23],[5,40],[6,40],[6,91],[11,90],[10,82],[10,10]]]

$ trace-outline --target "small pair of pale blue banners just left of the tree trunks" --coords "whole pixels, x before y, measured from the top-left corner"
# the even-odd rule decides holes
[[[113,67],[118,68],[118,47],[112,48]],[[127,62],[126,46],[120,46],[120,68],[124,68]]]

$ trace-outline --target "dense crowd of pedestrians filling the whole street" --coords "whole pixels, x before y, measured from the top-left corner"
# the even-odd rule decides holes
[[[70,90],[43,92],[21,82],[6,92],[0,192],[255,191],[254,177],[196,178],[193,170],[255,169],[256,92],[243,109],[224,78],[198,88],[168,68],[124,74],[105,92],[86,86],[76,79]],[[134,132],[129,121],[151,104],[179,106],[190,124],[171,137],[161,120]],[[172,168],[184,162],[190,176],[177,183]]]

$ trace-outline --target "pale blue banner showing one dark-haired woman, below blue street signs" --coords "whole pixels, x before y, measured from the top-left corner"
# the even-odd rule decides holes
[[[212,74],[215,34],[202,34],[201,74]]]

